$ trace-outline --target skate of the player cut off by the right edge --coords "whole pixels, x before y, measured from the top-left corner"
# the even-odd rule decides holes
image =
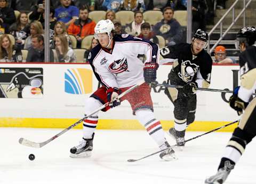
[[[222,184],[226,181],[230,171],[234,169],[234,165],[229,161],[225,161],[225,166],[220,168],[218,172],[205,180],[207,184]]]

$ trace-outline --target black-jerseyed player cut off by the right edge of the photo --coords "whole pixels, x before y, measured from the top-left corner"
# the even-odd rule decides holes
[[[244,114],[221,158],[217,174],[205,180],[209,184],[222,184],[244,153],[246,145],[256,135],[256,98],[249,103],[256,89],[256,29],[244,27],[236,36],[236,45],[242,51],[239,56],[241,86],[237,86],[229,99],[229,105],[240,115]]]

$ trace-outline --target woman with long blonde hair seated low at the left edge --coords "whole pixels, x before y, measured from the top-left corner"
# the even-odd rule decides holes
[[[15,48],[8,35],[0,37],[0,62],[22,62],[22,53]]]

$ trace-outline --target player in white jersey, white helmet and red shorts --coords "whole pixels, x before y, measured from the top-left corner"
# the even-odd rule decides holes
[[[119,100],[113,101],[113,99],[131,86],[145,80],[145,83],[137,89],[124,95],[121,101],[129,101],[133,115],[145,126],[159,149],[169,148],[170,145],[164,137],[162,125],[153,114],[153,102],[150,97],[149,84],[156,80],[158,68],[158,46],[131,35],[116,35],[114,29],[113,22],[108,19],[99,21],[94,28],[94,37],[99,40],[100,44],[91,50],[88,60],[102,87],[87,99],[85,114],[91,113],[106,102],[110,102],[111,108],[120,105]],[[138,54],[146,55],[145,65],[138,59]],[[107,111],[109,106],[102,111]],[[84,120],[83,139],[79,145],[70,149],[70,157],[91,155],[97,123],[98,113]],[[171,148],[163,151],[159,156],[166,161],[175,159],[174,150]]]

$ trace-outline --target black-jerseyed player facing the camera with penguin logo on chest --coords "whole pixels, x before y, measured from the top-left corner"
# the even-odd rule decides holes
[[[193,34],[191,44],[180,43],[160,50],[164,58],[162,61],[173,61],[167,83],[183,85],[183,89],[171,87],[165,89],[165,94],[174,105],[174,127],[169,130],[169,133],[177,143],[185,141],[186,127],[195,120],[195,87],[208,88],[210,85],[212,58],[204,50],[207,41],[207,32],[197,29]]]

